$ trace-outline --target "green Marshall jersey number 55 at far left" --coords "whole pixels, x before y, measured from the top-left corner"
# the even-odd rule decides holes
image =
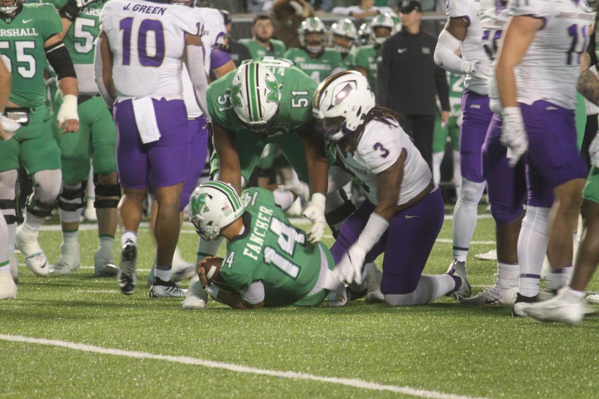
[[[46,101],[44,43],[60,31],[62,22],[50,4],[23,4],[14,18],[0,17],[0,53],[12,72],[12,102],[35,107]]]

